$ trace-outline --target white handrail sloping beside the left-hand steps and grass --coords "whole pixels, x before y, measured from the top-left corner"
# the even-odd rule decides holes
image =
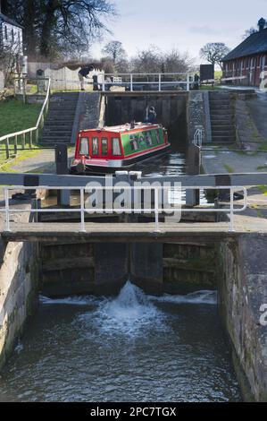
[[[5,134],[4,136],[0,137],[0,142],[5,142],[5,150],[6,150],[6,158],[7,159],[9,159],[9,140],[10,139],[15,138],[15,142],[14,142],[14,152],[15,153],[18,149],[18,136],[23,136],[21,150],[25,149],[25,135],[27,133],[30,133],[30,139],[29,139],[29,147],[30,148],[32,147],[32,134],[34,132],[36,133],[36,142],[38,142],[38,132],[39,132],[40,126],[42,126],[44,124],[45,114],[47,113],[48,106],[49,106],[51,79],[48,78],[47,81],[48,81],[48,85],[47,85],[47,90],[46,90],[46,98],[44,100],[43,106],[42,106],[41,111],[39,113],[36,125],[34,127],[30,127],[29,129],[21,130],[20,132]]]

